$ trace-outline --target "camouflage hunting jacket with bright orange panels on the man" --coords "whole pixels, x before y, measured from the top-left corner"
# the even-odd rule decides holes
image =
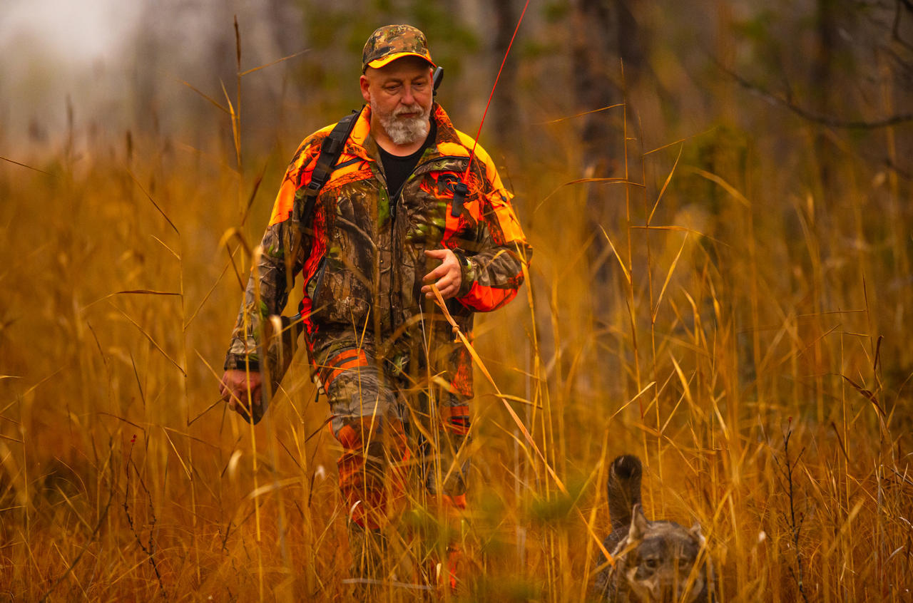
[[[393,203],[370,113],[362,109],[303,229],[293,224],[292,208],[332,126],[305,139],[292,158],[247,283],[226,369],[259,367],[257,342],[266,337],[264,327],[269,330],[267,318],[282,313],[299,274],[299,320],[311,351],[344,330],[369,333],[381,345],[408,335],[428,309],[422,278],[434,265],[426,263],[425,249],[452,249],[462,265],[462,285],[447,306],[464,332],[471,331],[473,312],[496,309],[516,296],[531,249],[488,153],[476,146],[465,175],[474,141],[435,105],[436,143],[425,149]],[[453,185],[459,180],[468,193],[454,217]],[[296,229],[307,235],[302,244],[289,244]]]

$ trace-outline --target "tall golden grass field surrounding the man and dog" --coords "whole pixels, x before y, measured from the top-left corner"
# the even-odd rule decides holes
[[[799,182],[727,136],[628,132],[627,183],[571,183],[566,148],[505,166],[535,252],[477,318],[464,600],[586,600],[623,452],[720,600],[913,600],[905,183]],[[0,161],[0,601],[347,600],[306,360],[256,428],[216,390],[288,157],[137,139]]]

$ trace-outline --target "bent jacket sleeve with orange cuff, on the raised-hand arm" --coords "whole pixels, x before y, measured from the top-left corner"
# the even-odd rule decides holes
[[[488,312],[517,295],[532,248],[510,205],[512,195],[480,147],[476,150],[476,160],[478,172],[474,168],[474,175],[481,181],[476,244],[472,249],[454,250],[462,265],[462,283],[456,301],[477,312]]]

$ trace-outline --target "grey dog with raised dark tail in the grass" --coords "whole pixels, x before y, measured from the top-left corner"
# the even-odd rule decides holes
[[[643,468],[630,454],[612,462],[609,472],[609,513],[612,533],[603,541],[614,566],[596,575],[597,596],[614,603],[687,601],[706,603],[712,570],[698,556],[704,546],[700,526],[687,529],[675,522],[647,521],[641,507]],[[599,555],[597,567],[605,564]]]

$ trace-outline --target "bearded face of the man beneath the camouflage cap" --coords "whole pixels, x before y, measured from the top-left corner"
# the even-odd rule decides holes
[[[403,57],[382,68],[368,68],[361,84],[362,97],[394,144],[425,140],[434,99],[427,62]]]

